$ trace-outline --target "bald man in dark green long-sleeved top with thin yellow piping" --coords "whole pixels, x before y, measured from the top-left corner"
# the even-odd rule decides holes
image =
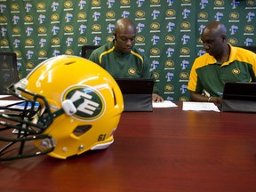
[[[153,78],[148,58],[133,47],[136,26],[127,18],[116,21],[113,30],[114,40],[94,50],[89,60],[105,68],[114,78]],[[158,94],[156,84],[152,94],[155,102],[164,101]]]

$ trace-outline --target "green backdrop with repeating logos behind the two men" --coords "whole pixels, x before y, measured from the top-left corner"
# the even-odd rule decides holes
[[[189,70],[204,54],[202,28],[220,20],[230,44],[255,45],[255,10],[255,0],[0,0],[0,51],[16,52],[26,76],[47,58],[106,44],[116,20],[127,17],[164,99],[188,100]]]

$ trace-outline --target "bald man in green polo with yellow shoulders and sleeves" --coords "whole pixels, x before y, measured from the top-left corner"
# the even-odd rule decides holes
[[[218,21],[204,28],[201,40],[206,53],[191,68],[190,100],[220,104],[226,82],[256,81],[256,54],[228,44],[226,31]]]

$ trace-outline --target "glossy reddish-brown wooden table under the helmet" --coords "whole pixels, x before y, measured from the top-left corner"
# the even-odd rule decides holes
[[[1,191],[256,191],[256,115],[177,104],[124,112],[106,150],[1,162]]]

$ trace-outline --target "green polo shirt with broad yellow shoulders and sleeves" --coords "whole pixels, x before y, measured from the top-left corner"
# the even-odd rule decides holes
[[[230,55],[227,62],[220,64],[208,53],[196,58],[190,71],[188,90],[220,96],[226,82],[256,81],[256,54],[228,45]]]

